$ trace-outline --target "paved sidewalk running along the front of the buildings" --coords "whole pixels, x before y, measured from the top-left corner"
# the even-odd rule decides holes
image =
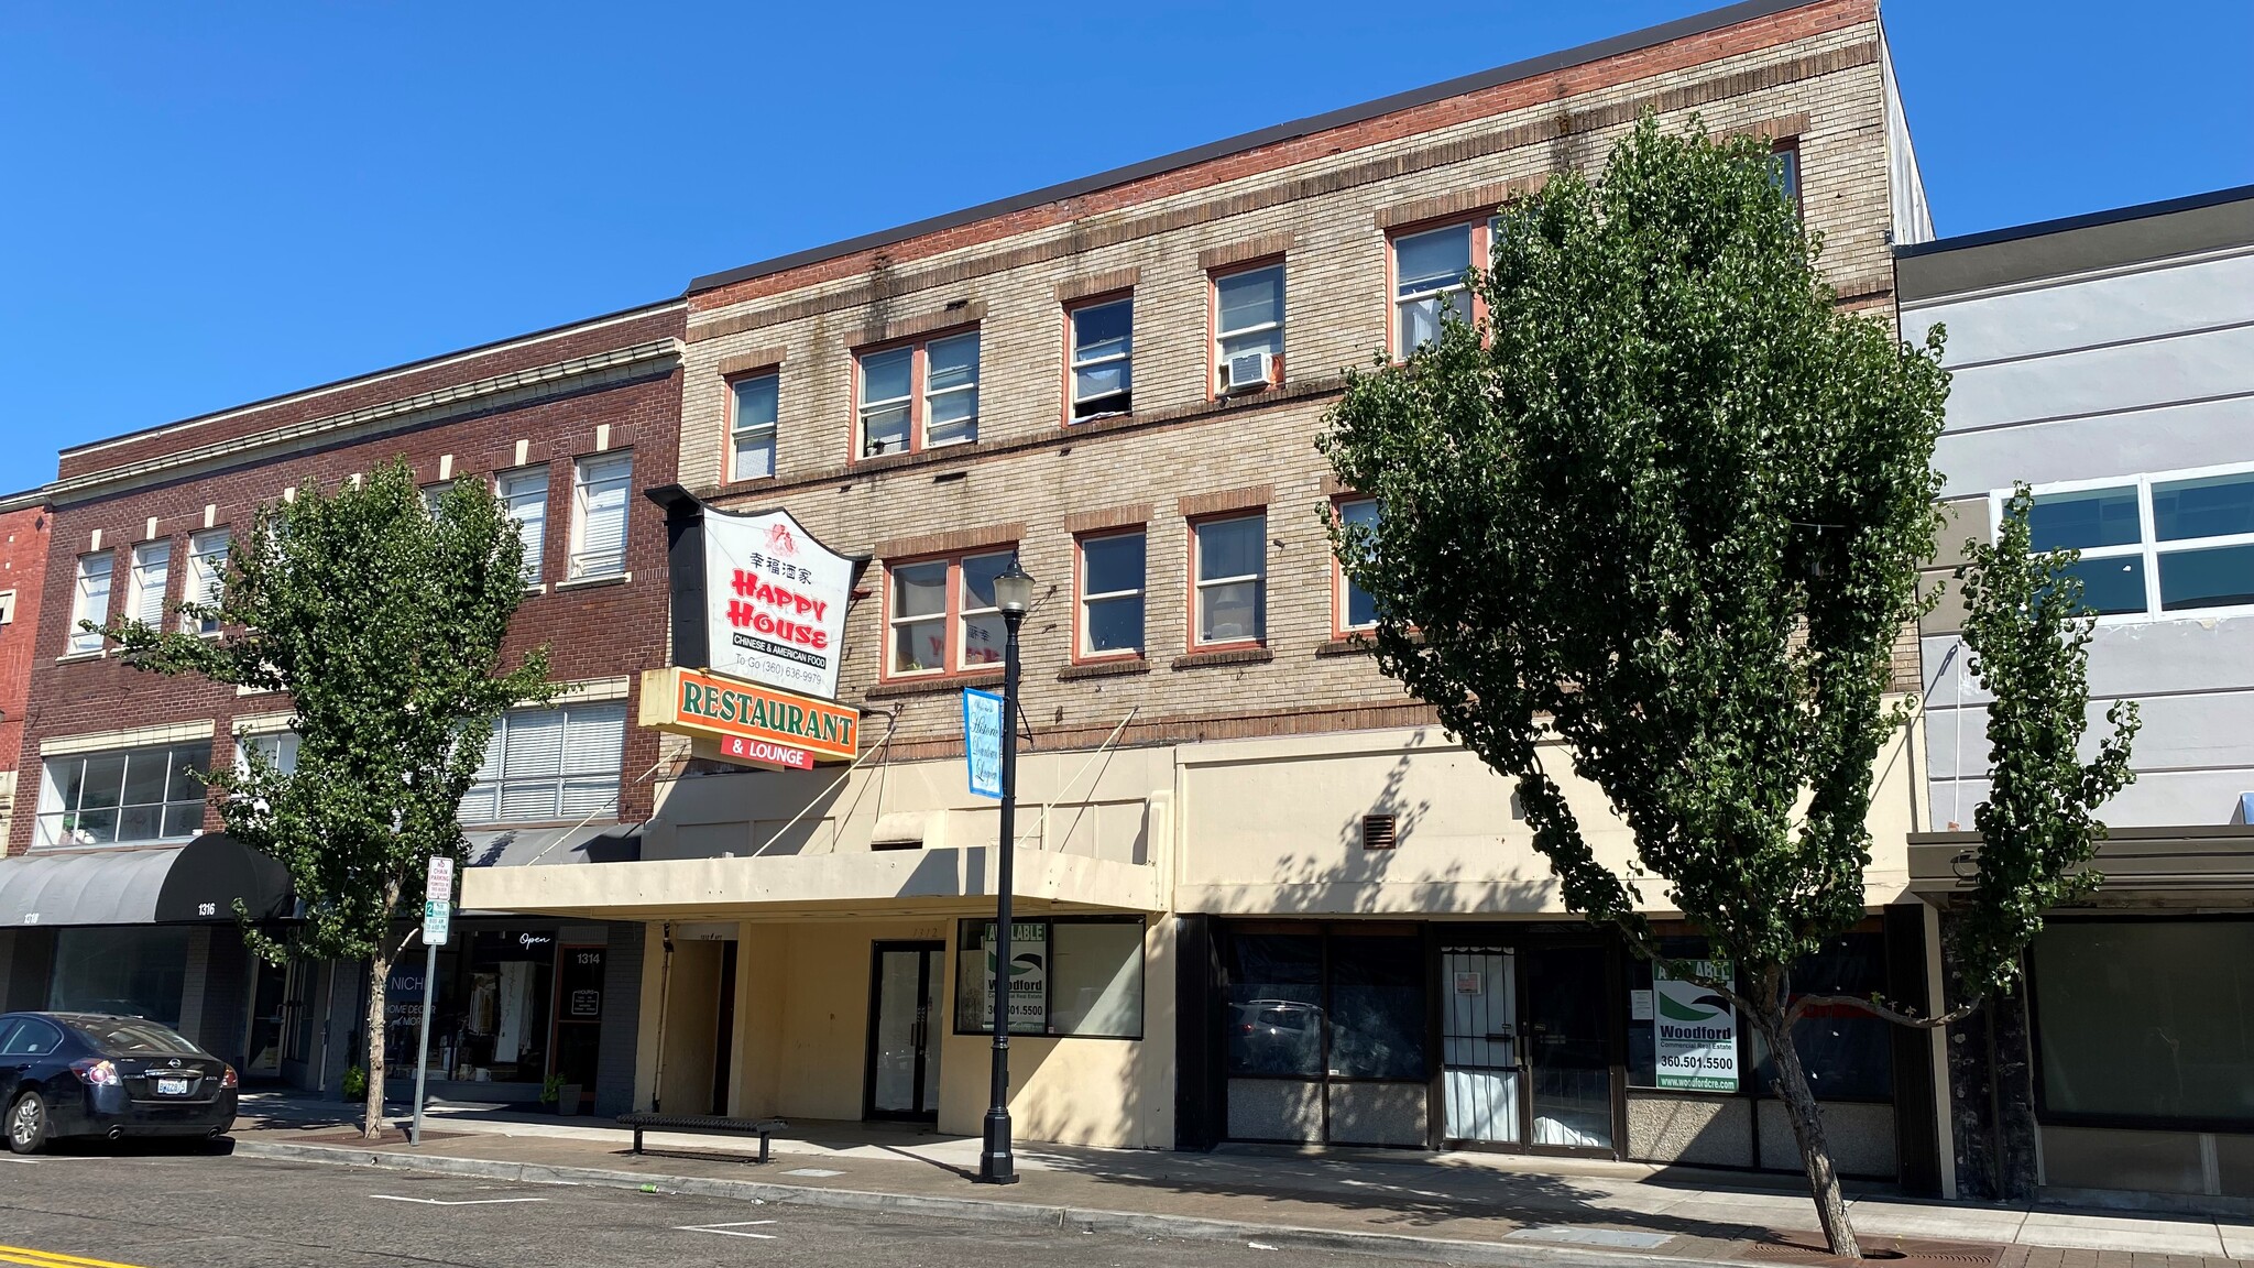
[[[1348,1250],[1456,1261],[1479,1259],[1481,1248],[1535,1257],[1553,1248],[1645,1261],[1808,1263],[1781,1257],[1774,1243],[1808,1241],[1817,1227],[1794,1178],[1560,1157],[1037,1144],[1019,1148],[1019,1185],[987,1189],[971,1185],[976,1139],[877,1124],[793,1124],[775,1137],[775,1162],[751,1166],[730,1155],[737,1142],[726,1137],[649,1133],[647,1148],[656,1153],[633,1157],[631,1133],[606,1119],[521,1108],[437,1106],[426,1115],[431,1137],[421,1148],[367,1146],[352,1137],[354,1121],[354,1108],[334,1101],[252,1094],[234,1139],[243,1153],[322,1162],[1177,1236],[1294,1234],[1301,1245],[1328,1236]],[[2254,1263],[2254,1225],[2243,1223],[1875,1196],[1853,1200],[1851,1209],[1866,1250],[1891,1248],[1896,1239],[1993,1243],[2006,1248],[2002,1268]]]

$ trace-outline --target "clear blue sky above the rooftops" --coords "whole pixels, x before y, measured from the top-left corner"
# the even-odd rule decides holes
[[[1711,7],[7,5],[0,490],[63,444]],[[2245,0],[1884,20],[1943,235],[2254,183]]]

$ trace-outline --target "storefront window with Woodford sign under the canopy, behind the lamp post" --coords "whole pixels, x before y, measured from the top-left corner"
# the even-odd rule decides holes
[[[962,921],[956,1033],[994,1033],[994,921]],[[1010,1033],[1143,1038],[1143,921],[1010,921]]]

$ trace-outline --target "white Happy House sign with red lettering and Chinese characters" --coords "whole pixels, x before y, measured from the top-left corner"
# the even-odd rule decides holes
[[[703,544],[708,668],[836,699],[854,562],[782,510],[703,508]]]

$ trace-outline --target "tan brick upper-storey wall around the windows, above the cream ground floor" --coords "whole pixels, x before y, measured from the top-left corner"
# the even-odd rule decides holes
[[[1055,203],[721,275],[690,293],[681,481],[730,510],[789,508],[832,548],[877,555],[850,614],[841,699],[899,711],[895,756],[958,751],[953,690],[992,677],[879,668],[886,557],[949,541],[1014,541],[1041,582],[1023,627],[1039,745],[1095,745],[1129,711],[1127,742],[1425,720],[1334,639],[1323,517],[1339,490],[1314,451],[1343,370],[1386,347],[1388,232],[1476,217],[1553,171],[1600,165],[1645,111],[1670,129],[1695,115],[1709,131],[1794,140],[1826,275],[1846,298],[1887,302],[1880,63],[1873,5],[1801,5]],[[1210,275],[1269,259],[1285,268],[1285,379],[1215,399]],[[1120,291],[1134,296],[1134,413],[1059,422],[1064,305]],[[967,323],[980,329],[976,442],[859,456],[854,352]],[[780,375],[775,476],[730,483],[728,377],[748,368]],[[1190,526],[1255,508],[1264,648],[1204,652],[1190,639]],[[1145,654],[1077,666],[1075,535],[1134,521],[1147,530]]]

